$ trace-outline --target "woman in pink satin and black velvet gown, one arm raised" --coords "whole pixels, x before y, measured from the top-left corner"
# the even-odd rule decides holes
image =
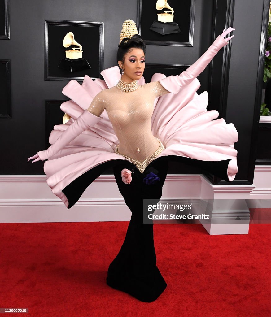
[[[147,84],[142,77],[146,46],[138,34],[125,37],[117,53],[121,78],[113,67],[101,72],[104,81],[93,82],[88,76],[82,85],[70,81],[63,94],[71,100],[61,109],[71,119],[54,127],[47,150],[28,159],[34,159],[32,163],[49,159],[44,163],[47,183],[67,208],[103,170],[113,167],[132,215],[124,243],[109,266],[107,284],[140,301],[156,300],[167,286],[156,266],[153,223],[143,221],[143,199],[159,202],[168,156],[202,166],[226,180],[235,178],[236,129],[224,119],[213,120],[218,113],[206,111],[207,93],[196,94],[196,77],[228,44],[233,36],[224,37],[234,29],[224,29],[182,74],[155,74]]]

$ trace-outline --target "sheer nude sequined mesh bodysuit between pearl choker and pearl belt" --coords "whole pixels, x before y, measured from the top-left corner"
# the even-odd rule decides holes
[[[160,146],[151,131],[154,100],[168,93],[159,81],[139,85],[132,92],[114,86],[97,94],[88,111],[100,116],[105,109],[119,140],[118,152],[143,162]]]

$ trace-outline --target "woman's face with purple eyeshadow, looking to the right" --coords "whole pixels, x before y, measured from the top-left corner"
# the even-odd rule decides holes
[[[132,82],[139,80],[145,69],[145,55],[142,49],[133,48],[124,55],[124,62],[118,61],[120,68],[123,68],[122,80]]]

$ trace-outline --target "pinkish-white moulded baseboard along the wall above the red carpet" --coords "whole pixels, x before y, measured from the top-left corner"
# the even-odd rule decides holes
[[[271,166],[256,165],[254,184],[250,186],[216,186],[203,175],[168,174],[161,199],[245,199],[248,208],[256,208],[262,200],[267,202],[262,205],[268,206]],[[249,222],[238,225],[215,223],[215,218],[225,217],[225,214],[220,215],[215,210],[211,213],[214,223],[203,224],[209,234],[248,233]],[[233,217],[240,213],[241,210],[236,210]],[[242,215],[247,221],[249,210],[245,210],[245,214],[243,210]],[[99,176],[70,209],[52,193],[45,175],[0,175],[1,223],[129,221],[130,217],[131,212],[118,190],[114,175]]]

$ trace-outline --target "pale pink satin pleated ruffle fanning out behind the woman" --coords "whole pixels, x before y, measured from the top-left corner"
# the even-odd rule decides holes
[[[102,89],[113,87],[121,78],[117,66],[101,72],[104,81],[92,81],[85,76],[82,85],[70,81],[63,94],[71,100],[61,105],[63,112],[71,119],[66,124],[54,126],[49,142],[53,144],[76,118],[89,107],[92,99]],[[154,74],[151,81],[165,78],[163,74]],[[144,78],[138,82],[145,83]],[[152,133],[159,138],[165,150],[158,156],[177,155],[191,159],[220,161],[231,159],[228,164],[228,178],[232,181],[237,173],[237,151],[234,143],[238,141],[238,133],[232,123],[224,119],[214,120],[219,113],[216,110],[207,111],[208,94],[196,93],[200,87],[197,79],[183,87],[176,94],[169,93],[155,100],[152,115]],[[62,190],[73,180],[93,167],[123,156],[114,151],[118,139],[106,111],[103,118],[91,130],[84,131],[69,146],[65,146],[48,161],[44,162],[44,172],[47,184],[52,192],[68,207],[67,197]]]

